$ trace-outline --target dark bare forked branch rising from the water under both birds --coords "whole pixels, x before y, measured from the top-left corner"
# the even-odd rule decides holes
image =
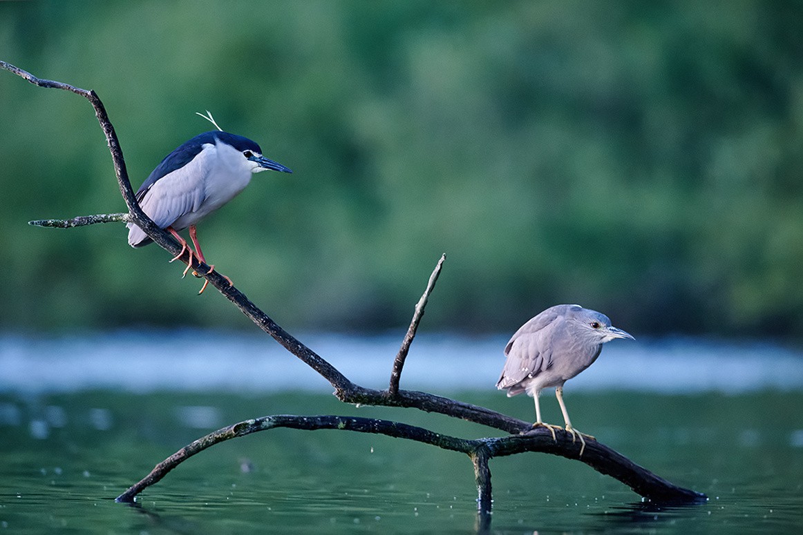
[[[112,161],[118,185],[120,186],[120,193],[129,211],[128,214],[101,214],[98,216],[76,217],[71,220],[32,221],[31,223],[43,226],[70,228],[72,226],[90,225],[104,221],[132,221],[143,229],[153,241],[157,242],[163,249],[175,256],[181,250],[176,241],[173,241],[173,237],[171,237],[169,233],[158,228],[158,226],[142,212],[137,203],[130,181],[128,180],[128,174],[125,170],[120,144],[117,140],[114,128],[108,120],[103,103],[100,102],[96,93],[66,83],[36,78],[34,75],[31,75],[31,73],[22,71],[22,69],[2,61],[0,61],[0,67],[21,76],[39,87],[55,87],[71,91],[84,96],[92,103],[97,119],[106,136],[109,151],[112,154]],[[245,294],[240,292],[233,285],[230,285],[230,282],[224,278],[222,274],[218,274],[217,270],[209,273],[208,266],[198,264],[197,261],[193,262],[193,268],[205,274],[203,276],[210,284],[215,286],[221,294],[233,302],[243,314],[251,318],[251,321],[255,322],[260,329],[270,334],[277,342],[285,347],[287,351],[296,355],[296,357],[327,379],[329,383],[332,384],[332,387],[335,388],[337,397],[345,403],[384,405],[388,407],[413,407],[422,411],[438,412],[455,418],[466,419],[477,424],[483,424],[491,428],[513,433],[512,436],[463,440],[439,435],[438,433],[423,428],[415,428],[414,426],[388,422],[386,420],[361,419],[345,416],[266,416],[261,419],[247,420],[246,422],[223,428],[202,439],[196,440],[185,448],[181,448],[181,450],[173,454],[173,456],[170,456],[168,459],[158,464],[149,476],[133,485],[132,488],[129,488],[124,494],[118,496],[118,501],[132,501],[133,496],[136,496],[143,488],[156,483],[161,477],[165,476],[167,472],[175,468],[177,464],[209,448],[211,445],[218,444],[223,440],[229,440],[235,436],[243,436],[252,432],[276,427],[309,430],[337,428],[349,429],[357,432],[381,433],[387,436],[426,442],[426,444],[433,444],[439,448],[465,452],[471,456],[471,460],[475,466],[475,476],[479,490],[479,511],[482,522],[488,521],[489,517],[487,515],[491,509],[491,472],[488,468],[488,460],[491,459],[491,457],[513,455],[520,452],[547,452],[558,456],[578,458],[580,456],[580,445],[576,444],[574,437],[568,432],[557,432],[556,440],[553,440],[552,433],[545,428],[532,429],[531,424],[528,422],[491,411],[485,407],[455,401],[454,399],[448,399],[426,392],[399,390],[399,380],[401,378],[407,352],[410,349],[410,343],[413,341],[418,323],[421,321],[427,299],[434,288],[444,258],[445,256],[442,256],[440,261],[438,261],[438,265],[430,276],[430,282],[416,306],[413,321],[410,323],[410,329],[407,331],[405,340],[402,342],[402,348],[393,363],[393,373],[391,375],[389,388],[386,391],[373,390],[352,383],[345,375],[340,373],[336,367],[333,367],[325,359],[320,357],[320,355],[317,355],[314,351],[304,346],[303,343],[276,324],[267,314],[259,310]],[[601,473],[621,480],[622,483],[627,484],[630,488],[633,488],[634,491],[654,501],[690,502],[699,501],[701,498],[704,498],[704,495],[698,492],[677,487],[655,476],[651,472],[648,472],[644,468],[626,459],[626,457],[600,444],[597,440],[587,440],[585,454],[580,460]]]

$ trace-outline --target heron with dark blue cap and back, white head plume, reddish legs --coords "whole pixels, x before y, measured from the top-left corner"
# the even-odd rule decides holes
[[[251,175],[267,170],[292,172],[282,164],[262,156],[262,149],[255,141],[228,132],[205,132],[182,144],[161,160],[148,179],[137,191],[142,211],[161,229],[173,234],[179,244],[181,257],[185,251],[190,255],[187,269],[193,263],[193,255],[206,263],[198,244],[195,225],[222,205],[234,199],[251,181]],[[132,247],[148,245],[151,239],[137,225],[128,223],[128,243]],[[190,228],[190,239],[195,252],[178,233]],[[171,260],[171,261],[173,261]],[[214,270],[210,265],[209,273]],[[197,275],[196,272],[193,274]],[[199,294],[206,290],[204,285]]]

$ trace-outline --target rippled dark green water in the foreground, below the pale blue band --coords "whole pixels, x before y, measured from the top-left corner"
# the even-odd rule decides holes
[[[453,393],[523,418],[528,399]],[[547,419],[557,421],[553,399]],[[711,500],[650,509],[616,480],[544,454],[491,461],[494,533],[801,533],[803,394],[567,392],[578,428]],[[215,428],[267,414],[395,418],[459,436],[475,424],[349,407],[329,395],[90,391],[0,394],[0,533],[472,533],[471,463],[351,432],[261,432],[202,452],[136,506],[113,498]]]

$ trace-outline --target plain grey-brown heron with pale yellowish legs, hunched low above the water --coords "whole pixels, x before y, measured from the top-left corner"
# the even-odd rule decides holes
[[[544,424],[538,404],[541,390],[555,387],[566,431],[572,434],[572,440],[580,437],[582,455],[585,440],[569,421],[563,403],[563,383],[591,366],[600,355],[602,344],[613,338],[634,339],[624,330],[611,326],[608,316],[596,310],[580,305],[552,306],[524,323],[507,342],[504,348],[507,361],[496,387],[507,389],[508,397],[524,391],[532,395],[536,400],[536,423],[532,427],[548,428],[552,439],[556,440],[555,429],[560,426]]]

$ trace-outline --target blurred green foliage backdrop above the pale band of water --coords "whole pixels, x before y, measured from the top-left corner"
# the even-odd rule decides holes
[[[803,2],[0,2],[0,59],[95,89],[137,188],[210,130],[294,170],[204,221],[293,329],[803,333]],[[246,327],[120,224],[92,109],[0,71],[0,329]]]

